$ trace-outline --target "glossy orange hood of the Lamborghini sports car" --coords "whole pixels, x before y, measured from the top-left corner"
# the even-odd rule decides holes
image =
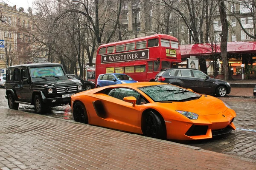
[[[198,115],[213,115],[227,110],[227,106],[220,99],[202,95],[200,99],[186,102],[158,102],[160,108],[173,111],[188,111]]]

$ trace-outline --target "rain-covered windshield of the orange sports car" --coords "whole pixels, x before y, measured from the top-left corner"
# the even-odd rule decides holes
[[[183,102],[194,99],[199,99],[200,94],[196,94],[192,91],[184,88],[179,88],[174,85],[151,85],[138,88],[147,94],[154,102]]]

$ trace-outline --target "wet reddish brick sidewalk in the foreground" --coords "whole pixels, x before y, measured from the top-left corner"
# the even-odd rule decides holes
[[[253,170],[256,160],[1,109],[0,169]]]

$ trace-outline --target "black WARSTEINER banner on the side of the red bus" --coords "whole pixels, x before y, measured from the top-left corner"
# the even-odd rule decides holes
[[[149,51],[140,50],[140,51],[131,51],[125,53],[118,53],[118,54],[107,54],[101,56],[101,63],[111,63],[111,62],[124,62],[124,61],[133,61],[133,60],[140,60],[140,59],[148,59]]]

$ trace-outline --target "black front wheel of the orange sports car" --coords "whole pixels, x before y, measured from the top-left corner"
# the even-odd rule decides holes
[[[145,133],[143,134],[152,138],[166,139],[166,127],[163,123],[156,113],[149,111],[144,116],[143,131]]]

